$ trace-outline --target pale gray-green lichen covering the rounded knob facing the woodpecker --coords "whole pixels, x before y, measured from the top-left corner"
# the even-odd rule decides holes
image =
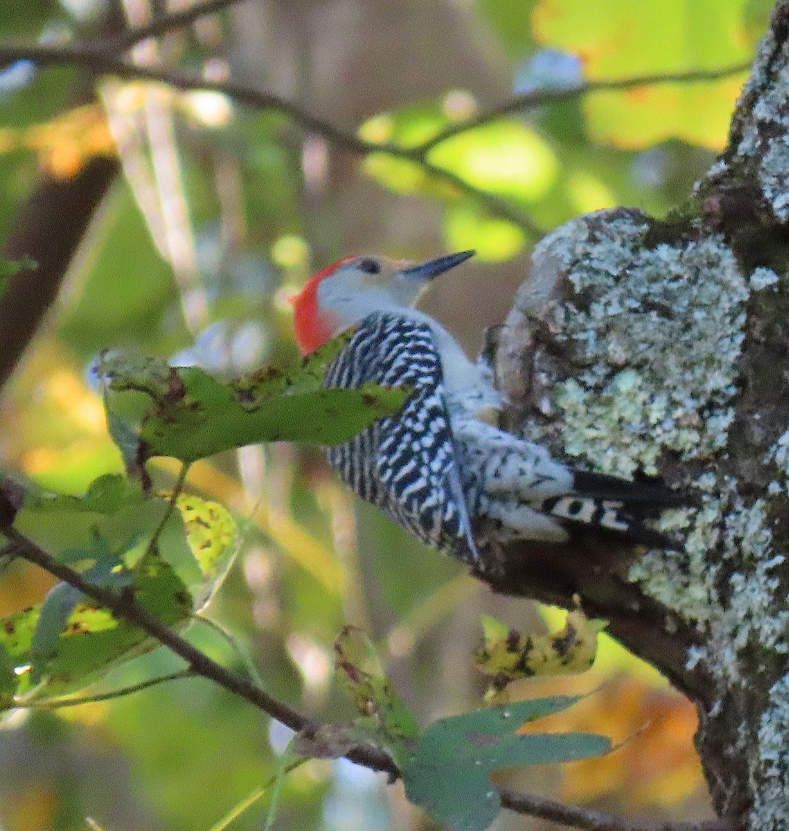
[[[624,476],[726,444],[751,291],[722,237],[648,248],[648,229],[632,211],[590,214],[534,254],[537,275],[550,263],[575,289],[541,314],[581,367],[554,390],[565,450]]]

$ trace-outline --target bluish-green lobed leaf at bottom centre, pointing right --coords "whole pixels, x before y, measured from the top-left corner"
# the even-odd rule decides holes
[[[501,809],[491,771],[586,759],[610,750],[608,739],[589,733],[517,732],[525,722],[576,701],[565,696],[519,701],[434,722],[403,770],[408,799],[455,831],[484,831]]]

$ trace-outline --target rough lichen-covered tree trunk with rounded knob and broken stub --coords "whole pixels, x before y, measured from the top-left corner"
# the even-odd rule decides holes
[[[722,817],[789,829],[789,0],[727,149],[668,219],[588,214],[533,255],[496,376],[525,435],[595,470],[661,475],[678,550],[501,553],[498,592],[610,621],[698,706]]]

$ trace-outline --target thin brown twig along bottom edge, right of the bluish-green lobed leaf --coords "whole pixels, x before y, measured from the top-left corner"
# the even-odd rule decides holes
[[[700,823],[636,823],[629,819],[603,814],[574,805],[565,805],[553,799],[543,799],[530,794],[516,794],[502,788],[499,791],[501,804],[516,814],[526,814],[539,819],[567,825],[583,831],[737,831],[738,826],[730,819],[711,819]]]

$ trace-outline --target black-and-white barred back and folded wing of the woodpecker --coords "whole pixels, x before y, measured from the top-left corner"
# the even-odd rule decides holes
[[[323,386],[367,381],[412,388],[402,411],[326,450],[356,493],[422,542],[467,563],[478,559],[430,327],[376,312],[334,358]]]

